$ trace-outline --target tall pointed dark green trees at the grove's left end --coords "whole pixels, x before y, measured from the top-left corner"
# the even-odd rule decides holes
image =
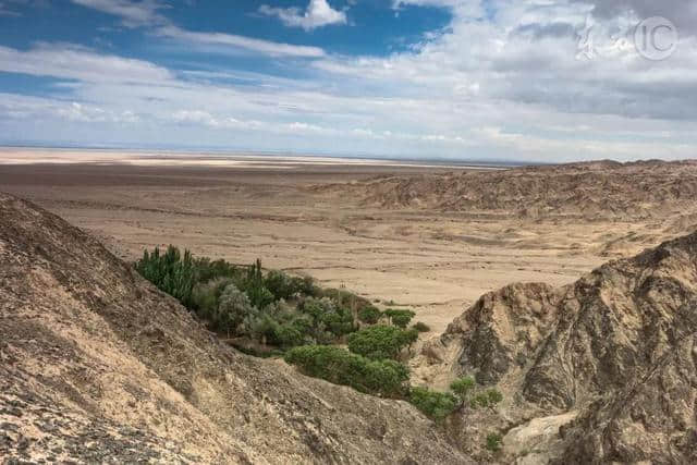
[[[192,306],[192,293],[197,281],[196,267],[192,254],[184,250],[182,257],[179,248],[170,245],[164,254],[155,247],[152,254],[147,250],[143,258],[135,264],[135,268],[145,279],[155,284],[160,291],[170,294],[185,307]]]

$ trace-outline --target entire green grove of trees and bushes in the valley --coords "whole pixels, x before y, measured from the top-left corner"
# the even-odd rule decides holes
[[[345,290],[322,290],[310,278],[265,271],[260,260],[236,266],[194,258],[173,246],[164,254],[146,250],[135,267],[212,330],[234,338],[235,344],[242,341],[250,353],[264,351],[244,343],[271,345],[286,351],[285,360],[306,375],[366,393],[409,399],[435,418],[458,404],[452,393],[409,390],[408,368],[396,358],[418,340],[419,331],[428,331],[424,323],[408,328],[411,310],[382,313]],[[329,345],[344,341],[348,350]]]

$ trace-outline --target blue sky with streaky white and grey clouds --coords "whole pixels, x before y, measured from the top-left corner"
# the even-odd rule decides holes
[[[694,0],[0,0],[0,144],[694,158]]]

